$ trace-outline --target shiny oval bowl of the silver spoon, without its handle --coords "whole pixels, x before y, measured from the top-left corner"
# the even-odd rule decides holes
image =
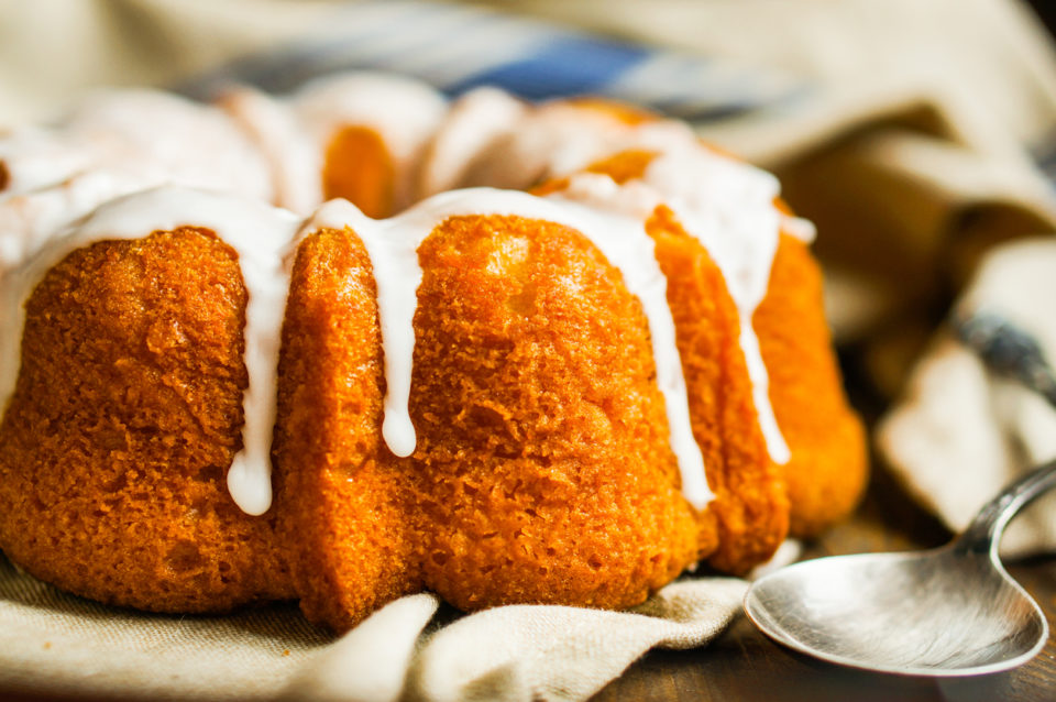
[[[796,563],[757,581],[745,611],[801,652],[911,676],[1007,670],[1048,639],[1041,607],[1000,563],[955,547]]]

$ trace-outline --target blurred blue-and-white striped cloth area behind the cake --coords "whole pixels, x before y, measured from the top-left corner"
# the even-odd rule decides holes
[[[598,95],[702,121],[796,100],[806,84],[770,69],[604,39],[480,8],[398,0],[330,17],[309,39],[229,64],[182,91],[249,83],[287,92],[336,70],[391,70],[459,95],[482,85],[527,99]]]

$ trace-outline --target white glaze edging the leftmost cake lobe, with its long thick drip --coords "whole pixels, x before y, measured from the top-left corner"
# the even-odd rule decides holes
[[[105,205],[80,224],[48,241],[23,266],[0,278],[4,334],[0,340],[0,406],[7,407],[18,380],[24,305],[52,266],[98,241],[146,237],[153,231],[199,227],[213,231],[239,254],[249,300],[245,309],[243,448],[228,471],[231,496],[244,512],[271,505],[271,439],[275,425],[280,328],[289,287],[285,259],[300,220],[285,210],[230,196],[183,188],[158,188]]]

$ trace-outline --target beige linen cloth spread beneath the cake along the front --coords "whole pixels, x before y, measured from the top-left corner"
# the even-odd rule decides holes
[[[746,589],[735,578],[688,578],[628,612],[507,606],[425,634],[439,601],[417,594],[334,641],[294,605],[146,615],[59,592],[0,558],[0,689],[210,701],[584,700],[650,648],[707,644],[740,611]]]

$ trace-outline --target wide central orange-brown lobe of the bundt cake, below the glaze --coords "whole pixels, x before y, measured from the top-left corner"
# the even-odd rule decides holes
[[[625,607],[700,556],[641,306],[578,232],[457,217],[419,249],[411,416],[426,585]]]

